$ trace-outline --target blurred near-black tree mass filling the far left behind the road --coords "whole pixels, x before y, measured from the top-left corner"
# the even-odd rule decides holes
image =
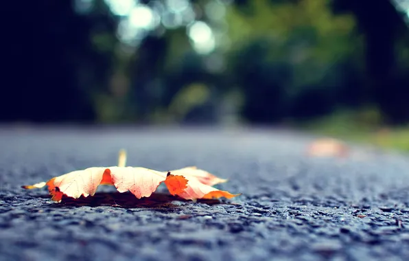
[[[115,41],[115,23],[102,1],[94,13],[75,12],[75,1],[9,1],[4,10],[19,10],[12,21],[13,74],[3,88],[0,120],[89,122],[95,120],[91,93],[103,91],[110,71],[110,50],[96,49],[98,37]],[[105,39],[106,40],[106,39]],[[106,43],[106,41],[104,42]],[[8,106],[13,104],[14,106]]]

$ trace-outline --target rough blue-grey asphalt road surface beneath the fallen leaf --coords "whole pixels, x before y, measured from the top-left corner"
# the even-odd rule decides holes
[[[0,129],[0,260],[409,260],[409,158],[353,147],[306,157],[285,131]],[[137,200],[99,188],[53,203],[21,185],[71,170],[196,165],[229,201]],[[361,216],[362,215],[362,216]]]

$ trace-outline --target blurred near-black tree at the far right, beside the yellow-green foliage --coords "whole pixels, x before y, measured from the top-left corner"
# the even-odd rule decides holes
[[[373,100],[390,123],[409,120],[406,90],[409,82],[399,76],[396,47],[399,38],[407,37],[408,27],[403,16],[388,0],[333,0],[334,11],[352,12],[364,34],[366,52],[366,82]],[[408,43],[408,42],[406,42]]]

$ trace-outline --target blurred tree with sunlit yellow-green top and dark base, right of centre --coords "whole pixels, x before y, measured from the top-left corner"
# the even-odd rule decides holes
[[[333,16],[328,3],[257,0],[229,8],[232,73],[243,87],[250,122],[329,113],[336,104],[349,105],[345,92],[353,95],[351,88],[359,93],[355,100],[364,99],[357,86],[360,39],[354,21]]]

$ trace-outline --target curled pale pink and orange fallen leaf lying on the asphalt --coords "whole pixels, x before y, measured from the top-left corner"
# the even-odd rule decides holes
[[[126,152],[119,152],[118,166],[93,167],[75,170],[47,182],[23,185],[27,190],[48,186],[53,201],[60,202],[62,196],[72,198],[93,196],[98,185],[114,185],[121,193],[130,191],[137,198],[150,196],[161,183],[165,183],[170,194],[196,201],[197,198],[233,198],[239,194],[211,187],[226,182],[205,170],[186,167],[172,172],[160,172],[141,167],[126,167]]]

